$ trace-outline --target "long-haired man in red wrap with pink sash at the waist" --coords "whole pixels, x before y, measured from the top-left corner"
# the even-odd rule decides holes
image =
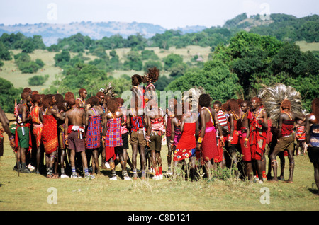
[[[208,179],[211,178],[210,170],[213,168],[213,158],[219,156],[217,140],[216,140],[216,128],[218,132],[223,134],[222,129],[217,120],[216,112],[211,108],[211,97],[208,94],[201,94],[198,99],[198,105],[201,108],[199,114],[200,134],[196,144],[196,151],[201,152],[201,163],[206,168],[206,175]],[[223,135],[219,136],[223,145]]]

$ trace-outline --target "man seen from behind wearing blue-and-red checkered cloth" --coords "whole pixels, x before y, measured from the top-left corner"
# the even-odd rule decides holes
[[[86,158],[88,165],[90,162],[91,155],[93,172],[99,174],[99,148],[101,145],[101,127],[102,127],[102,116],[103,110],[99,104],[99,98],[92,96],[86,100],[88,109],[85,114],[85,126],[86,126],[86,149],[89,151]],[[106,127],[106,125],[104,125]]]

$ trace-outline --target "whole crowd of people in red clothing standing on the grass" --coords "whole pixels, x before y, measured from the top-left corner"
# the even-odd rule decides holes
[[[143,76],[133,75],[128,105],[105,90],[87,99],[84,88],[79,89],[79,97],[72,92],[65,96],[45,95],[24,88],[11,132],[1,113],[1,122],[16,152],[16,171],[41,174],[41,168],[45,168],[47,178],[94,178],[103,168],[111,170],[110,179],[116,180],[119,164],[124,180],[138,179],[138,172],[144,180],[150,171],[153,179],[161,180],[165,137],[166,175],[176,174],[179,166],[195,180],[197,168],[201,167],[201,175],[209,179],[211,171],[219,166],[237,168],[238,176],[252,182],[276,182],[284,180],[288,156],[286,182],[293,183],[294,156],[308,154],[318,185],[318,98],[313,100],[311,114],[296,112],[291,106],[293,100],[281,99],[280,104],[274,104],[277,117],[276,110],[267,110],[266,94],[221,103],[197,91],[192,98],[169,99],[163,108],[159,107],[154,86],[158,78],[157,68],[148,69]],[[128,166],[133,175],[129,175]]]

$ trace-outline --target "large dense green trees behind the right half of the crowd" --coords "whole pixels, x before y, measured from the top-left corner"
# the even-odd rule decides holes
[[[301,52],[293,42],[275,37],[240,32],[228,45],[219,45],[203,69],[189,69],[167,90],[185,91],[202,86],[214,100],[249,99],[263,86],[284,83],[300,91],[303,104],[319,96],[319,59],[312,52]]]

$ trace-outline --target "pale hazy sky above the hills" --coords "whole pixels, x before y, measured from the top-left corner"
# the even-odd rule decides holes
[[[9,0],[1,2],[0,23],[139,22],[163,28],[223,25],[247,16],[285,13],[319,14],[318,0]]]

